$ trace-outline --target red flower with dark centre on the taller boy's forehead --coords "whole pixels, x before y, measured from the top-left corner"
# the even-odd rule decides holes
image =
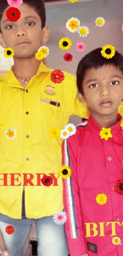
[[[20,10],[15,7],[10,7],[6,12],[7,19],[13,22],[19,20],[20,16],[21,16]]]

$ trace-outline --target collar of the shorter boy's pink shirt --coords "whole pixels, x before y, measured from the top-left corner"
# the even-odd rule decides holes
[[[118,114],[118,122],[116,124],[114,124],[113,126],[108,127],[108,128],[111,129],[110,132],[111,132],[112,135],[118,133],[119,130],[122,129],[121,126],[120,126],[121,121],[122,121],[122,116],[120,114]],[[99,126],[98,123],[96,123],[96,121],[93,119],[92,115],[89,116],[88,126],[92,130],[92,132],[95,132],[97,134],[99,134],[100,131],[102,130],[102,127]],[[104,127],[104,128],[106,128],[106,127]]]

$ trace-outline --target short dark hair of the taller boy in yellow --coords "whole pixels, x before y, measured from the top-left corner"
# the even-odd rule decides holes
[[[23,3],[29,5],[36,11],[36,13],[38,13],[42,21],[42,28],[45,27],[46,12],[45,12],[44,0],[23,0]],[[7,4],[7,1],[0,0],[0,22],[1,22],[2,14],[7,7],[11,7]],[[0,33],[2,33],[1,27],[0,27]]]

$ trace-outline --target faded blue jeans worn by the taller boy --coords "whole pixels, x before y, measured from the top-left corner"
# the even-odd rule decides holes
[[[56,225],[53,216],[40,219],[13,219],[6,216],[6,222],[0,221],[9,256],[22,256],[31,225],[34,221],[38,240],[38,256],[68,256],[67,239],[64,224]],[[12,225],[15,232],[8,235],[5,228]],[[0,253],[1,254],[1,253]]]

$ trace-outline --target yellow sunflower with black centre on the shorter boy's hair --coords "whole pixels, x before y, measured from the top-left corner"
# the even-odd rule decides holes
[[[104,58],[111,59],[115,54],[115,48],[112,45],[105,45],[101,50],[101,54]]]

